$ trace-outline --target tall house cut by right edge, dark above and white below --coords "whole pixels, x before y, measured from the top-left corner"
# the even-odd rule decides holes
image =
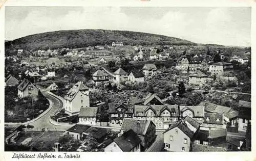
[[[238,130],[246,132],[248,122],[251,122],[251,102],[239,100]]]

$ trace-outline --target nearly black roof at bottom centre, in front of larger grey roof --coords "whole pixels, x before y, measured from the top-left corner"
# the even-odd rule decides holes
[[[114,139],[114,142],[122,149],[122,151],[131,151],[140,144],[141,140],[136,133],[130,129],[123,133],[122,136]]]

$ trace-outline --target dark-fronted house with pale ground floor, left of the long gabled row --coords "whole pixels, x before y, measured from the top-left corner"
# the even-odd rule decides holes
[[[133,108],[125,103],[109,103],[110,126],[120,127],[124,118],[133,118]]]

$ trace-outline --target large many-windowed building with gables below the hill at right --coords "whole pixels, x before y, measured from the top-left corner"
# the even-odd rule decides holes
[[[214,62],[209,55],[192,57],[190,54],[181,56],[176,62],[176,69],[182,73],[194,73],[198,69],[208,71],[209,64]]]

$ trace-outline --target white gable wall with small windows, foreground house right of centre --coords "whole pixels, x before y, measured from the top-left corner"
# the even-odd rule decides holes
[[[176,130],[178,130],[178,133]],[[173,141],[170,141],[170,136],[173,136]],[[184,138],[187,139],[187,144],[184,144]],[[185,151],[189,151],[190,149],[190,138],[178,127],[164,133],[164,143],[170,144],[170,148],[164,148],[167,151],[182,151],[182,147],[185,147]]]

